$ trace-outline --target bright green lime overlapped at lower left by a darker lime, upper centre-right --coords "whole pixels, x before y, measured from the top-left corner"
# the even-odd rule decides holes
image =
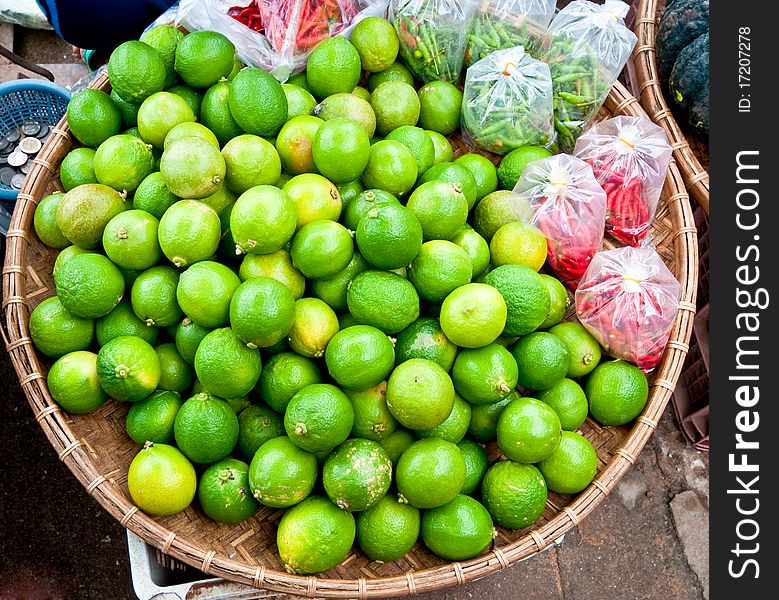
[[[459,183],[423,183],[409,196],[407,206],[419,219],[425,241],[452,239],[468,219],[468,201]]]

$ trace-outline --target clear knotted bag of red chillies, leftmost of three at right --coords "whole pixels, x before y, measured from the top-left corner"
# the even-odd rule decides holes
[[[568,154],[529,163],[514,186],[516,211],[547,239],[547,264],[576,289],[603,244],[606,194],[592,167]]]

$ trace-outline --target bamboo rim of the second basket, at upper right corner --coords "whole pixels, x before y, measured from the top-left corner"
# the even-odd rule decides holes
[[[657,70],[655,38],[663,14],[662,0],[640,0],[636,11],[634,31],[638,42],[630,60],[633,63],[638,89],[636,94],[649,117],[668,135],[684,183],[690,196],[709,212],[709,173],[701,166],[690,143],[676,122],[663,96],[660,74]]]

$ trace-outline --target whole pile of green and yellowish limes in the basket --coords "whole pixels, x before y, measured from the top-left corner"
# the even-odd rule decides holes
[[[61,177],[90,177],[35,215],[64,248],[30,317],[54,400],[130,404],[128,486],[151,515],[195,496],[225,523],[287,509],[279,554],[305,574],[355,540],[381,561],[420,537],[479,555],[495,525],[589,485],[588,415],[629,423],[648,396],[563,322],[545,240],[497,190],[543,152],[453,161],[459,90],[415,89],[384,19],[352,40],[313,50],[295,78],[309,91],[236,72],[220,33],[122,44],[111,95],[68,111],[95,152]]]

